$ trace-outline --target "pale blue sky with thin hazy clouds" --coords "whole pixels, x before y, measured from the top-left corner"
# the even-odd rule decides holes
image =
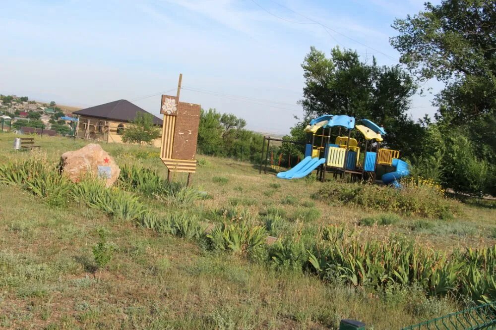
[[[138,99],[158,114],[160,95],[143,97],[175,94],[182,72],[182,101],[235,113],[257,131],[287,133],[303,114],[300,65],[310,46],[329,54],[339,45],[394,64],[390,25],[423,2],[2,1],[0,93],[81,107]],[[431,99],[412,98],[414,118],[435,112]]]

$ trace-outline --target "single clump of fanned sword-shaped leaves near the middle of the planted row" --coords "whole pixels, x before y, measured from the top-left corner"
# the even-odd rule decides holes
[[[267,232],[264,227],[251,220],[223,222],[207,235],[214,249],[231,250],[245,254],[265,243]]]

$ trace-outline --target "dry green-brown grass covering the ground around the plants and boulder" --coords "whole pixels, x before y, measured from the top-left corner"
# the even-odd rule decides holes
[[[12,150],[14,137],[0,134],[1,161],[57,162],[63,152],[87,143],[36,137],[40,152],[30,153]],[[167,173],[156,148],[102,147],[121,166]],[[495,244],[496,210],[491,207],[447,201],[454,210],[450,219],[386,212],[396,218],[380,225],[367,219],[384,211],[320,198],[323,187],[344,183],[280,180],[273,173],[258,174],[250,164],[198,159],[193,186],[207,197],[188,212],[205,223],[218,223],[219,215],[230,210],[249,213],[259,222],[276,212],[282,221],[270,233],[282,238],[304,239],[336,225],[360,241],[394,236],[442,251]],[[173,211],[160,199],[138,196],[160,214]],[[157,233],[84,204],[53,206],[17,185],[0,186],[0,198],[4,328],[333,329],[340,319],[352,318],[373,329],[399,329],[465,306],[411,286],[378,290],[322,281],[311,272],[259,262],[256,255],[212,250],[203,240]],[[97,267],[93,251],[102,230],[115,249],[110,263]]]

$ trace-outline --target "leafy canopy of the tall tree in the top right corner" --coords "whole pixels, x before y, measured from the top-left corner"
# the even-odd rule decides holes
[[[444,0],[397,19],[391,44],[420,79],[446,88],[436,96],[440,117],[464,122],[496,109],[496,2]]]

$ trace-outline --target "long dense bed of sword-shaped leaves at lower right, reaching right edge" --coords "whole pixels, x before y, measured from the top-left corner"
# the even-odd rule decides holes
[[[337,276],[373,287],[415,284],[431,295],[470,297],[478,303],[496,299],[496,246],[447,256],[406,240],[344,239],[310,247],[309,256],[324,279]]]

